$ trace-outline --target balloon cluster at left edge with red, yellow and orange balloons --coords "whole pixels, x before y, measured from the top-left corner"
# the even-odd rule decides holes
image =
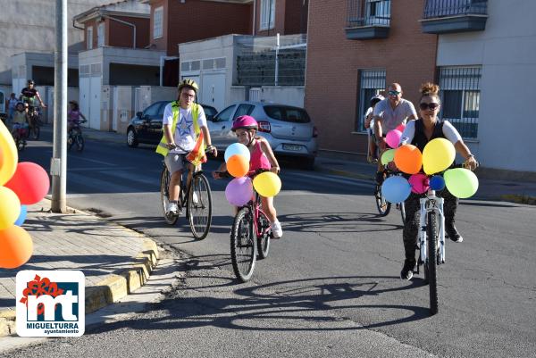
[[[33,252],[29,233],[21,228],[28,207],[46,196],[50,181],[33,162],[20,162],[9,130],[0,121],[0,268],[14,269]]]

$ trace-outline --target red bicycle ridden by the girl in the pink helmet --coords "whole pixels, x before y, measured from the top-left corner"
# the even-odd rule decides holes
[[[255,171],[250,178],[263,171]],[[270,221],[255,188],[254,193],[255,199],[239,208],[230,230],[230,260],[240,282],[247,282],[253,276],[257,254],[260,259],[265,259],[270,251]]]

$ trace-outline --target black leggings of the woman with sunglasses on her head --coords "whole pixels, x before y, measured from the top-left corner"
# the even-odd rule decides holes
[[[443,212],[445,222],[454,222],[458,198],[450,194],[447,188],[436,192],[436,196],[445,199],[443,203]],[[419,199],[424,197],[423,194],[411,193],[404,202],[406,208],[406,223],[402,238],[404,239],[404,250],[406,251],[406,260],[415,260],[415,249],[417,247],[417,238],[419,237],[419,218],[421,216],[421,204]]]

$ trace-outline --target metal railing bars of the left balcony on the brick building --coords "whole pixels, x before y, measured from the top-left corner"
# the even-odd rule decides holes
[[[390,0],[348,0],[348,28],[389,26]]]

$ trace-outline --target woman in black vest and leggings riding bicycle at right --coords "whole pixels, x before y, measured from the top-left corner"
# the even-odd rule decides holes
[[[406,129],[402,133],[402,140],[407,144],[412,144],[419,148],[421,152],[424,146],[434,138],[447,138],[455,147],[456,152],[465,158],[465,167],[474,170],[478,166],[474,155],[467,146],[465,146],[462,137],[448,121],[441,121],[438,118],[440,112],[440,87],[432,83],[424,83],[421,86],[421,100],[419,103],[420,118],[416,121],[409,121],[406,124]],[[394,165],[394,162],[390,164]],[[458,233],[454,226],[456,208],[458,199],[450,194],[445,187],[443,190],[436,193],[437,196],[443,197],[445,200],[443,210],[445,215],[445,231],[454,242],[462,242],[463,237]],[[401,279],[411,279],[415,268],[415,249],[417,245],[417,237],[419,230],[419,199],[424,194],[418,195],[411,193],[404,202],[406,205],[406,221],[404,224],[403,239],[404,249],[406,252],[406,261],[402,271],[400,272]]]

